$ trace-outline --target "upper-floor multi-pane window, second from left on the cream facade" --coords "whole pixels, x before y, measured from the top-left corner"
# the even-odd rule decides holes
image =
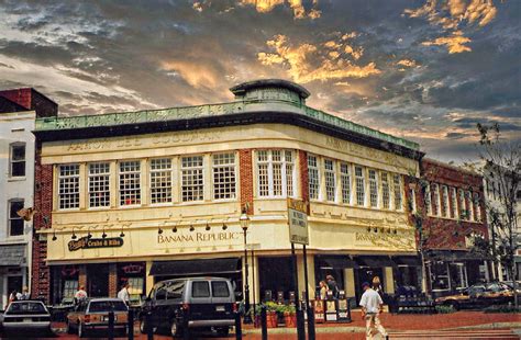
[[[89,206],[110,206],[110,163],[89,165]]]

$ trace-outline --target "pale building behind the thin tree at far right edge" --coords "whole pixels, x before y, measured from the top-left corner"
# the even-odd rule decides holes
[[[484,173],[484,186],[485,186],[485,192],[486,192],[486,200],[487,200],[487,205],[489,208],[497,209],[500,213],[505,213],[505,206],[506,202],[505,200],[509,200],[506,197],[511,191],[511,183],[508,183],[508,175],[502,175],[501,171],[506,171],[505,168],[500,168],[498,166],[492,166],[490,163],[484,165],[481,163],[479,167],[480,171]],[[518,173],[518,179],[521,178],[521,174]],[[519,181],[519,180],[518,180]],[[516,216],[517,216],[517,253],[514,256],[514,263],[516,263],[516,273],[517,273],[517,280],[521,280],[521,184],[518,183],[518,188],[512,192],[516,199],[514,203],[514,209],[516,209]],[[487,218],[489,219],[490,216],[487,215]],[[491,240],[496,245],[500,245],[501,242],[508,242],[508,233],[505,231],[499,231],[499,230],[492,230],[494,224],[489,223],[489,234],[491,237]],[[497,277],[499,281],[510,281],[512,280],[507,271],[506,268],[498,261],[498,268],[492,271],[492,275]]]

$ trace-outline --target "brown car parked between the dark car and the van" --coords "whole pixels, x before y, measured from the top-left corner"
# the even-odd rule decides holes
[[[126,335],[129,308],[121,298],[91,298],[79,302],[67,315],[67,333],[77,332],[80,338],[91,331],[109,329],[109,311],[114,311],[114,332]]]

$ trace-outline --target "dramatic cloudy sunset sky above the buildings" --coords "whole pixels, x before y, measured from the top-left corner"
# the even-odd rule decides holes
[[[521,139],[521,1],[0,0],[0,89],[60,115],[231,101],[258,78],[466,161],[477,122]]]

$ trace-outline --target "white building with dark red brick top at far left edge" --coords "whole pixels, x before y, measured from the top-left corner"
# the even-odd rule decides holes
[[[57,105],[34,89],[0,91],[0,303],[29,286],[33,207],[34,120],[55,115]],[[27,209],[25,219],[31,218]]]

